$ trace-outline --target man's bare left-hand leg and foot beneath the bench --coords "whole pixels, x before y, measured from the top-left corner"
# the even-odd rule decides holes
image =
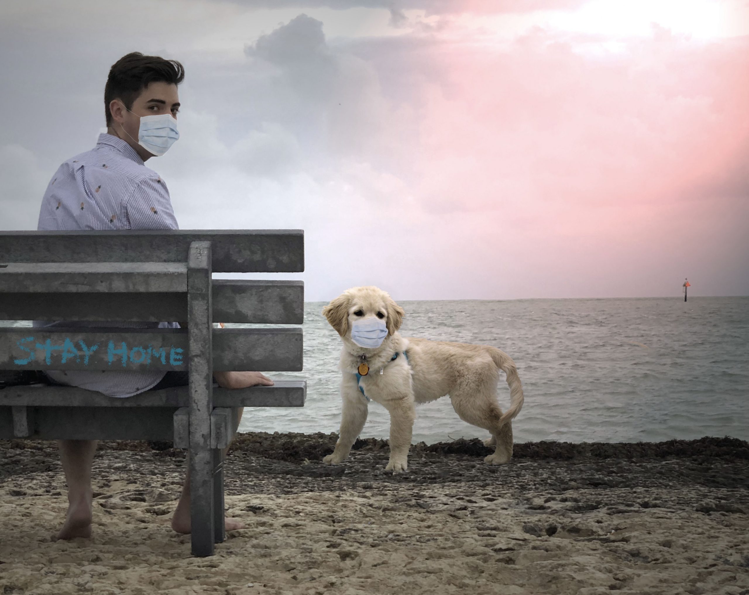
[[[67,516],[58,539],[91,537],[91,465],[96,440],[58,440],[67,480]]]

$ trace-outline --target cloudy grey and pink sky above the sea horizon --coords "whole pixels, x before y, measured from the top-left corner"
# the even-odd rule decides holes
[[[3,2],[0,229],[131,51],[180,227],[303,229],[307,301],[749,295],[749,0]]]

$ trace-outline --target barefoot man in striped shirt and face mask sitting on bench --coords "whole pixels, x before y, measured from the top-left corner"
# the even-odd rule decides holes
[[[112,66],[104,88],[106,134],[99,135],[94,149],[68,159],[52,176],[42,200],[39,230],[178,229],[166,183],[145,161],[166,153],[179,138],[177,85],[183,79],[179,62],[139,52],[125,55]],[[84,325],[178,327],[177,323],[80,324]],[[181,372],[58,370],[47,376],[52,383],[81,386],[111,397],[187,385],[187,373]],[[213,377],[225,388],[273,385],[259,372],[215,372]],[[60,440],[58,445],[69,502],[58,539],[90,537],[91,464],[97,443]],[[226,519],[227,530],[242,526],[236,519]],[[190,532],[189,473],[172,528],[178,533]]]

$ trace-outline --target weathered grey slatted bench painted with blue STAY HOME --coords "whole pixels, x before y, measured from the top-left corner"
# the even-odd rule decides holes
[[[189,370],[189,386],[107,397],[50,385],[0,389],[0,439],[173,441],[189,449],[192,554],[225,538],[222,448],[237,407],[300,407],[306,382],[228,390],[213,370],[302,370],[303,281],[211,278],[302,272],[304,235],[280,231],[0,232],[0,370]],[[181,329],[82,321],[180,322]],[[69,323],[69,324],[68,324]]]

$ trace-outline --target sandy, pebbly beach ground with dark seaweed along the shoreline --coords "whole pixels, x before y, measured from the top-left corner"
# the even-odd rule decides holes
[[[228,514],[246,523],[192,558],[169,528],[184,451],[106,442],[94,534],[55,542],[66,508],[51,442],[0,442],[2,594],[749,594],[749,444],[705,438],[412,447],[322,465],[335,435],[240,435]]]

